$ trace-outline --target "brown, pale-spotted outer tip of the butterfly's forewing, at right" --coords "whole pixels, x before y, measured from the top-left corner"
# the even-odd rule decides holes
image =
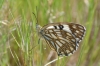
[[[79,24],[70,23],[69,28],[72,34],[76,37],[77,42],[79,43],[84,37],[86,30],[85,27]]]

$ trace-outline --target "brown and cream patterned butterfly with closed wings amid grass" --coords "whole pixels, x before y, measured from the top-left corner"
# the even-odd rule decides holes
[[[50,23],[41,27],[36,25],[38,33],[47,44],[54,49],[58,56],[73,54],[84,37],[86,28],[75,23]]]

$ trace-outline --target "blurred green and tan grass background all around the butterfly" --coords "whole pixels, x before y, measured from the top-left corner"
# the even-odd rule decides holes
[[[84,25],[78,50],[59,59],[44,40],[38,43],[33,13],[41,26]],[[0,0],[0,66],[44,66],[56,58],[48,66],[100,66],[100,0]]]

